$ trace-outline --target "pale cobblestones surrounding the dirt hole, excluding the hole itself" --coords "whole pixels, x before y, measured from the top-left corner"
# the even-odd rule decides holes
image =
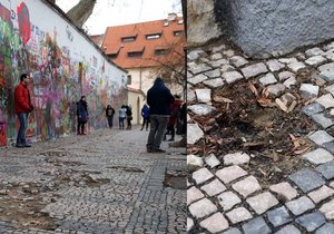
[[[188,144],[196,145],[206,133],[194,117],[229,101],[214,99],[214,90],[245,80],[266,87],[269,96],[281,100],[274,108],[279,104],[286,113],[296,104],[284,101],[283,95],[299,95],[305,100],[299,116],[308,116],[317,126],[306,135],[311,149],[296,156],[304,166],[269,186],[246,167],[253,160],[246,153],[188,155],[189,233],[334,233],[333,61],[334,42],[256,61],[224,42],[188,52]],[[298,80],[305,70],[306,79]]]

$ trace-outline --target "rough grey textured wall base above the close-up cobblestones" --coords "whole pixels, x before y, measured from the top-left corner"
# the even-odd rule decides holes
[[[334,38],[333,0],[215,0],[215,16],[255,58]]]

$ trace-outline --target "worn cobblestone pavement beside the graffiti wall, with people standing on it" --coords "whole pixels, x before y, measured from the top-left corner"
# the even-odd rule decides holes
[[[0,233],[185,233],[185,148],[164,143],[167,154],[148,154],[147,134],[98,130],[0,149]]]

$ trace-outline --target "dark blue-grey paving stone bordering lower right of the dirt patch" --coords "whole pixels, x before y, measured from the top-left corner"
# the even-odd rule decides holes
[[[311,169],[301,169],[291,174],[288,178],[294,182],[304,193],[311,192],[325,184],[321,175]]]

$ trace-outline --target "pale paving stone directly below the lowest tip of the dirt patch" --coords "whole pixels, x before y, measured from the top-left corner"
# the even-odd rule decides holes
[[[246,199],[246,202],[256,212],[256,214],[263,214],[278,204],[276,197],[269,192],[265,192],[256,196],[249,197],[248,199]]]

